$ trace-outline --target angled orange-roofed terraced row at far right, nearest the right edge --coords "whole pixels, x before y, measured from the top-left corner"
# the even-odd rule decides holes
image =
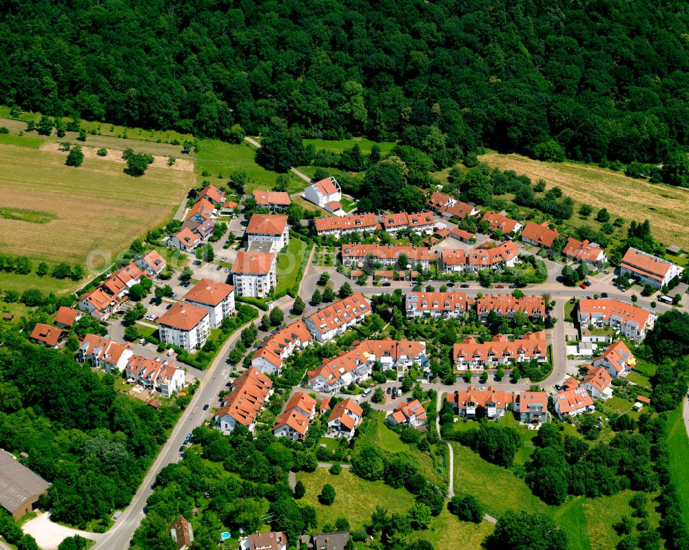
[[[579,300],[579,326],[610,326],[637,342],[646,337],[655,319],[655,313],[612,298]]]

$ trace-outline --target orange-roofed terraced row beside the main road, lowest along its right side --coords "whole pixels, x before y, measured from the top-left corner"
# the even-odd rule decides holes
[[[216,425],[223,432],[232,432],[237,424],[253,431],[256,416],[272,394],[273,381],[260,370],[250,367],[232,382],[229,394],[214,414]]]

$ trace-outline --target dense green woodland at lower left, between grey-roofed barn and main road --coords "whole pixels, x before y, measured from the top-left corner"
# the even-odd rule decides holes
[[[52,485],[41,496],[55,520],[81,528],[110,524],[127,505],[180,410],[119,396],[72,357],[34,346],[16,330],[1,335],[0,446],[25,452],[26,465]]]

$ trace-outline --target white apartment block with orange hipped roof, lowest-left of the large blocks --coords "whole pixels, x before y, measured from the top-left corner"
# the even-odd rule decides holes
[[[206,343],[210,332],[207,308],[175,302],[158,319],[158,334],[163,343],[191,351]]]

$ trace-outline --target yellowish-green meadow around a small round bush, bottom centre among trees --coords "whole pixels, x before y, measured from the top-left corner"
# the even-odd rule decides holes
[[[297,480],[306,487],[304,499],[316,508],[319,529],[326,523],[334,523],[337,518],[347,518],[353,530],[363,529],[370,522],[376,506],[387,508],[389,512],[407,514],[414,502],[407,489],[393,489],[382,481],[363,480],[347,469],[342,470],[339,476],[333,476],[326,468],[318,468],[316,472],[298,472]],[[331,506],[318,502],[318,495],[326,483],[335,488],[337,495]]]

